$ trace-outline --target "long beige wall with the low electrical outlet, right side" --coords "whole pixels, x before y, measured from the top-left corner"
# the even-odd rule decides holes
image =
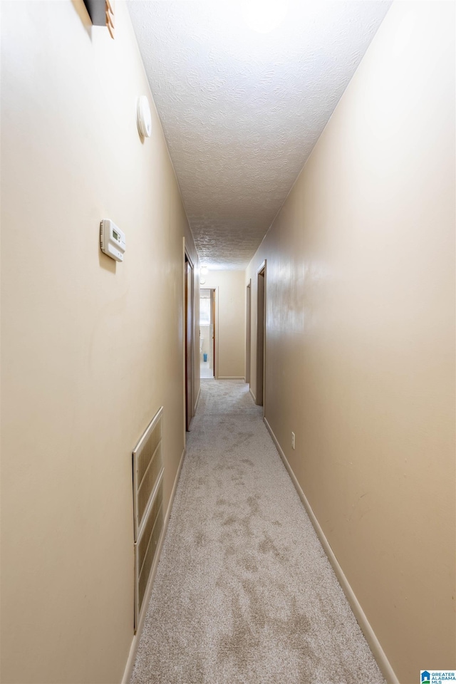
[[[401,684],[456,667],[454,240],[455,6],[396,2],[247,279],[266,419]]]

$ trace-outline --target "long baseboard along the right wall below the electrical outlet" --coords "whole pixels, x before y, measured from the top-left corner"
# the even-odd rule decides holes
[[[336,558],[336,555],[334,554],[333,549],[331,549],[331,544],[329,544],[328,539],[326,539],[326,535],[323,532],[323,529],[321,529],[318,520],[316,519],[316,515],[311,508],[311,504],[309,504],[309,501],[307,500],[306,494],[304,494],[303,490],[301,489],[301,485],[299,484],[298,480],[296,480],[296,475],[294,475],[293,470],[291,470],[291,465],[286,460],[286,456],[282,451],[279,442],[276,439],[276,435],[274,435],[274,432],[272,431],[272,428],[269,425],[266,418],[263,418],[263,420],[264,424],[266,425],[269,431],[269,434],[272,437],[274,444],[276,445],[276,449],[279,452],[281,460],[284,462],[286,470],[288,470],[289,476],[291,477],[291,482],[293,482],[294,487],[296,488],[296,492],[298,492],[299,498],[301,499],[301,502],[304,504],[304,508],[306,509],[306,512],[309,515],[309,518],[311,519],[311,523],[314,525],[314,529],[316,534],[318,535],[318,539],[320,539],[321,541],[321,546],[323,546],[326,556],[328,556],[329,562],[333,566],[333,571],[336,573],[336,577],[343,589],[343,593],[346,595],[348,603],[350,603],[351,609],[356,617],[356,620],[358,621],[359,626],[361,627],[361,630],[363,631],[366,641],[371,647],[373,657],[377,661],[378,667],[383,673],[383,677],[388,682],[388,684],[399,684],[399,680],[395,675],[393,668],[390,665],[390,661],[386,657],[385,651],[383,651],[383,648],[380,645],[380,641],[378,641],[378,638],[375,636],[375,632],[371,627],[371,623],[369,623],[368,618],[366,617],[366,613],[364,613],[363,608],[361,608],[361,603],[358,601],[358,598],[356,598],[356,594],[351,588],[351,585],[349,584],[348,579],[346,578],[345,573],[343,572],[343,569],[341,568]]]

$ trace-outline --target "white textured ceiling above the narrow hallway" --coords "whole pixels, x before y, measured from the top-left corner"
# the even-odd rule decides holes
[[[270,33],[238,3],[128,6],[199,257],[244,269],[390,2],[291,1]]]

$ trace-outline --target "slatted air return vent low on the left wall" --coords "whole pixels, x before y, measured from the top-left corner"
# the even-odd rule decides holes
[[[135,631],[163,529],[162,415],[160,408],[133,450]]]

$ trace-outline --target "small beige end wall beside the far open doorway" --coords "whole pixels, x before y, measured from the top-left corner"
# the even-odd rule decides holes
[[[204,288],[217,288],[215,368],[218,378],[245,376],[245,271],[209,271]]]

